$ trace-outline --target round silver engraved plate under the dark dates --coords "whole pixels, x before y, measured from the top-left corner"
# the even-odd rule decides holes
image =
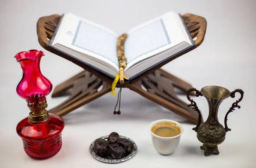
[[[107,139],[108,139],[108,135],[106,135],[106,136],[101,136],[101,137],[99,137],[99,138],[97,138],[97,139],[100,139],[100,138],[107,140]],[[97,160],[99,160],[99,161],[101,161],[101,162],[105,162],[105,163],[120,163],[120,162],[124,162],[124,161],[126,161],[126,160],[128,160],[128,159],[131,159],[133,156],[135,156],[135,154],[136,154],[136,152],[137,152],[137,146],[136,146],[136,144],[134,143],[133,140],[131,140],[130,138],[128,138],[128,137],[126,137],[126,136],[121,136],[121,135],[120,135],[120,138],[128,139],[128,140],[130,140],[130,141],[134,144],[134,149],[131,151],[130,154],[125,154],[125,157],[123,157],[123,158],[121,158],[121,159],[114,159],[112,156],[107,156],[107,155],[106,155],[106,156],[98,156],[98,155],[96,155],[95,152],[94,152],[93,147],[94,147],[94,142],[95,142],[97,139],[95,139],[95,140],[91,143],[91,145],[90,145],[90,153],[92,154],[92,156],[93,156],[95,159],[97,159]]]

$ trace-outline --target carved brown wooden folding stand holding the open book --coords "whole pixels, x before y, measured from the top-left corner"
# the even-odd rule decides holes
[[[75,110],[76,108],[79,108],[82,105],[111,92],[113,79],[108,78],[104,74],[84,64],[81,64],[79,61],[69,58],[67,55],[61,54],[60,52],[48,47],[49,39],[52,38],[53,32],[55,31],[60,17],[61,16],[57,14],[41,17],[37,23],[37,34],[38,41],[44,49],[72,61],[84,69],[84,71],[73,76],[67,81],[64,81],[62,84],[59,84],[57,87],[55,87],[55,90],[52,93],[52,97],[63,96],[64,94],[70,95],[66,101],[49,110],[50,113],[63,116],[70,113],[72,110]],[[195,49],[204,41],[207,22],[204,17],[193,14],[184,14],[182,17],[192,38],[197,37],[195,40],[196,46],[192,48]],[[186,52],[183,52],[180,55],[183,55]],[[163,62],[154,69],[151,69],[145,74],[132,80],[130,83],[125,83],[123,87],[127,87],[145,98],[148,98],[149,100],[154,101],[155,103],[160,104],[169,110],[172,110],[180,116],[183,116],[189,121],[197,123],[198,113],[195,112],[191,107],[187,107],[187,104],[177,97],[174,90],[174,87],[176,87],[183,93],[186,93],[186,90],[192,86],[174,75],[160,69],[160,67],[169,63],[173,59],[174,58]],[[102,89],[98,91],[101,86]],[[145,89],[143,89],[142,86],[144,86]],[[116,87],[119,87],[119,84],[117,84]],[[114,104],[115,102],[113,101],[113,106]]]

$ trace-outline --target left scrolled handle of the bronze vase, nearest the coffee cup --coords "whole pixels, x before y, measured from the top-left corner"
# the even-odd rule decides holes
[[[198,96],[203,96],[203,95],[202,95],[202,93],[201,93],[199,90],[197,90],[197,89],[195,89],[195,88],[190,88],[189,90],[187,90],[187,99],[191,102],[191,103],[188,105],[188,107],[193,106],[194,108],[192,108],[192,109],[198,112],[198,124],[197,124],[194,128],[192,128],[192,130],[195,130],[195,132],[197,132],[198,127],[199,127],[199,125],[201,124],[202,116],[201,116],[201,112],[200,112],[200,110],[198,109],[198,106],[197,106],[197,104],[195,103],[195,101],[193,101],[193,99],[191,99],[191,98],[189,97],[190,92],[193,92],[193,91],[195,91],[195,96],[196,96],[196,97],[198,97]]]

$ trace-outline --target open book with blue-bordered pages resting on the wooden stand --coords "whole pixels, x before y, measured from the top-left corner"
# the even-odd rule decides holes
[[[130,80],[195,46],[180,14],[168,12],[126,32],[124,75]],[[119,73],[119,35],[79,16],[63,14],[49,47],[111,78]]]

